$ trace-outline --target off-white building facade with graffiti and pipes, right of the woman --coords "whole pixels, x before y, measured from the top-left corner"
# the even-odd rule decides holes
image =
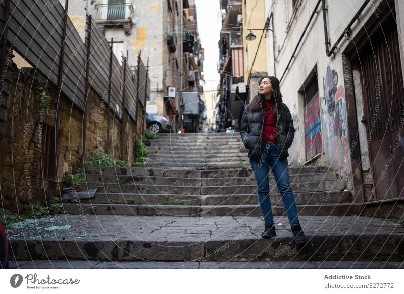
[[[383,203],[399,217],[404,3],[344,3],[265,1],[268,72],[296,129],[289,163],[329,166],[370,214]]]

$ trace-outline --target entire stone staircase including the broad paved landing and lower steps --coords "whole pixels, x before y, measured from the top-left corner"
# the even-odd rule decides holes
[[[274,258],[282,268],[296,268],[293,262],[320,268],[315,262],[402,261],[403,226],[360,216],[363,204],[352,203],[345,182],[327,167],[289,167],[309,239],[299,247],[272,173],[277,236],[260,237],[256,180],[238,133],[161,134],[149,151],[147,167],[87,166],[80,188],[97,187],[94,198],[63,203],[66,214],[9,230],[11,259],[187,261],[198,268],[228,262],[229,268],[237,262],[272,268]]]

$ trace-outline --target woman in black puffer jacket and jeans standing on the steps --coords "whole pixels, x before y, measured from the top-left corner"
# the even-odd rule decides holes
[[[279,80],[264,77],[259,82],[259,94],[248,104],[241,119],[241,138],[249,149],[248,157],[258,186],[258,199],[265,220],[263,238],[276,235],[269,199],[269,168],[274,174],[282,196],[289,223],[297,244],[305,243],[306,236],[297,217],[294,194],[289,183],[288,148],[293,142],[293,119],[282,103]]]

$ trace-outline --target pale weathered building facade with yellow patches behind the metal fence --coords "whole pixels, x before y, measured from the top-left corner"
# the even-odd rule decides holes
[[[139,54],[149,58],[147,105],[155,105],[157,114],[169,118],[175,130],[181,129],[182,91],[201,91],[203,49],[194,1],[70,0],[69,17],[83,39],[86,12],[113,41],[118,60],[125,56],[135,68]]]

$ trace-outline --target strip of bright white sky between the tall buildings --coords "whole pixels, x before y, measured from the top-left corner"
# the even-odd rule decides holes
[[[195,0],[200,42],[204,48],[204,90],[216,89],[219,83],[220,29],[222,20],[219,0]]]

